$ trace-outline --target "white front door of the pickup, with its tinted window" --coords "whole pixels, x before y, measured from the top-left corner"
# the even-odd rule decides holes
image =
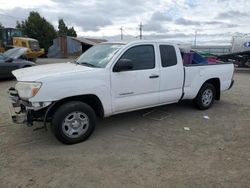
[[[160,81],[154,45],[131,47],[120,59],[130,60],[133,68],[122,72],[113,69],[111,72],[113,113],[158,104]]]

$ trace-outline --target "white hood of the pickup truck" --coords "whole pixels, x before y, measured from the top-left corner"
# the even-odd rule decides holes
[[[12,71],[18,81],[37,81],[51,76],[60,76],[69,73],[91,71],[94,68],[74,63],[56,63],[23,68]]]

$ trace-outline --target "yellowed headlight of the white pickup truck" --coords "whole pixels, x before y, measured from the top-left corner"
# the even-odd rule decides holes
[[[29,99],[37,94],[41,86],[42,83],[40,82],[18,82],[15,89],[20,98]]]

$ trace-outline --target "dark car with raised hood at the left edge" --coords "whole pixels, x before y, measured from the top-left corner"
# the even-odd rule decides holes
[[[31,61],[23,59],[27,48],[13,48],[4,53],[0,53],[0,78],[12,78],[13,70],[34,66]]]

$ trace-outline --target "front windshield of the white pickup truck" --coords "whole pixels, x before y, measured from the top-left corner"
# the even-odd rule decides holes
[[[89,65],[91,67],[104,68],[115,55],[115,53],[122,47],[122,44],[98,44],[86,52],[84,52],[76,63],[82,65]]]

